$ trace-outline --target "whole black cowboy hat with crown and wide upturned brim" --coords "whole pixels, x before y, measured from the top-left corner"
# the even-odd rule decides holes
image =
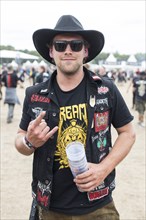
[[[75,17],[63,15],[54,29],[39,29],[33,33],[33,42],[36,50],[45,60],[53,63],[49,55],[48,45],[56,35],[65,33],[79,34],[89,43],[89,55],[86,63],[93,60],[104,46],[104,36],[101,32],[84,30],[81,23]]]

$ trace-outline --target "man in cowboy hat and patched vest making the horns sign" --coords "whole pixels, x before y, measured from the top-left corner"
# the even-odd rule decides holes
[[[56,65],[48,81],[27,88],[15,142],[20,153],[34,154],[32,191],[39,219],[118,220],[112,199],[115,167],[129,153],[135,133],[116,86],[83,67],[100,53],[104,36],[63,15],[54,29],[37,30],[33,41]],[[113,146],[111,124],[118,132]],[[65,151],[74,141],[84,144],[88,161],[88,170],[76,178]]]

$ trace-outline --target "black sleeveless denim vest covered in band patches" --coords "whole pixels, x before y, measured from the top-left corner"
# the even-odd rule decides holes
[[[91,77],[86,69],[84,69],[84,72],[87,76],[88,113],[86,155],[88,162],[99,163],[106,157],[111,148],[110,129],[113,114],[113,88],[109,79],[101,79],[98,76]],[[59,105],[53,90],[53,78],[55,75],[56,72],[53,73],[48,82],[38,85],[35,91],[31,90],[31,88],[28,88],[26,91],[26,95],[29,94],[27,98],[29,103],[27,113],[31,120],[35,119],[38,113],[44,110],[46,111],[45,121],[51,129],[58,125],[59,122]],[[100,118],[105,123],[101,123],[103,125],[100,126],[100,123],[96,122],[96,116],[98,116],[97,120]],[[101,140],[98,142],[98,139]],[[42,147],[35,151],[33,159],[33,196],[36,197],[38,205],[46,210],[49,209],[52,191],[52,170],[56,141],[57,132]],[[99,146],[97,147],[97,145]],[[100,145],[103,146],[101,147]],[[114,178],[115,171],[105,179],[104,188],[108,189],[108,194],[115,188]],[[92,195],[88,195],[89,200],[91,199],[92,201],[90,197]]]

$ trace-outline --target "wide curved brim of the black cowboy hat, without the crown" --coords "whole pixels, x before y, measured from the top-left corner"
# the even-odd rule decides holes
[[[95,30],[80,30],[80,31],[60,31],[54,29],[39,29],[33,34],[33,43],[38,53],[47,61],[52,62],[52,58],[49,55],[49,43],[58,34],[79,34],[81,35],[90,45],[89,55],[86,59],[86,63],[93,60],[102,50],[104,46],[104,36],[101,32]]]

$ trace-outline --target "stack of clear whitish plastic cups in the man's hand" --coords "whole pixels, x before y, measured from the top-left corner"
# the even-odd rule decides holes
[[[66,154],[74,177],[88,170],[84,145],[74,141],[66,146]]]

